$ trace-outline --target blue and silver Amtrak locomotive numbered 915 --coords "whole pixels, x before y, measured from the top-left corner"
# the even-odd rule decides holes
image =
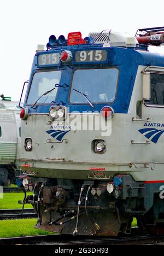
[[[163,43],[164,27],[104,30],[36,51],[18,160],[37,229],[117,236],[135,217],[163,234],[164,54],[148,50]]]

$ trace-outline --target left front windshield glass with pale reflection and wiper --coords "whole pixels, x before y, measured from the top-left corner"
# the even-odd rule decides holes
[[[37,72],[34,74],[30,92],[27,98],[27,104],[33,104],[38,98],[59,84],[61,79],[61,71]],[[37,104],[46,104],[55,101],[58,88],[42,96]]]

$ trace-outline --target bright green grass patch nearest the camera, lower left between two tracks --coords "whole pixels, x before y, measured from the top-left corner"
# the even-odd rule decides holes
[[[0,237],[50,235],[52,232],[34,229],[36,219],[16,219],[0,221]]]

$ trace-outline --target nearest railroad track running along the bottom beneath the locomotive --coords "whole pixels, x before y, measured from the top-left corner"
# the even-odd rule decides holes
[[[70,236],[70,235],[46,235],[26,236],[0,239],[0,245],[53,245],[53,246],[110,246],[110,245],[148,245],[164,241],[164,236]]]

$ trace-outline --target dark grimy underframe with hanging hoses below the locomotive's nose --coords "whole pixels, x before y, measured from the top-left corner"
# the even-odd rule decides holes
[[[109,182],[30,178],[29,182],[36,184],[34,196],[28,196],[26,202],[38,214],[35,228],[60,234],[117,236],[131,233],[133,217],[140,226],[162,222],[164,208],[158,193],[154,193],[156,206],[153,200],[147,208],[153,187],[135,182],[130,174],[115,177],[121,178],[122,184],[115,185],[114,177]],[[153,213],[151,220],[149,212]]]

